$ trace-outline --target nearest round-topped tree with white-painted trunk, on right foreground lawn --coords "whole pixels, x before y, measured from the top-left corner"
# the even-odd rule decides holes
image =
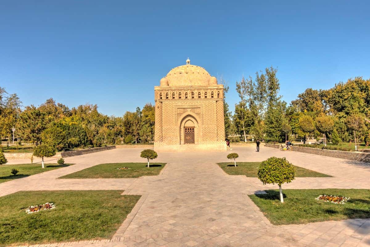
[[[295,168],[286,158],[270,157],[262,161],[258,167],[258,178],[263,184],[279,185],[280,201],[282,203],[284,202],[284,198],[281,185],[283,183],[290,183],[295,179],[295,176]]]

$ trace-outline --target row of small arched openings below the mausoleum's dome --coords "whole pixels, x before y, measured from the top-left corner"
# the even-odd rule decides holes
[[[181,91],[172,92],[166,91],[159,93],[158,100],[182,100],[182,99],[221,99],[222,95],[220,91]]]

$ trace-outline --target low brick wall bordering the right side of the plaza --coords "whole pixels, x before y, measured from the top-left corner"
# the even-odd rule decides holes
[[[265,146],[279,148],[280,144],[266,143]],[[300,147],[299,145],[293,146],[293,151],[317,154],[317,155],[323,155],[323,156],[330,156],[330,157],[335,157],[335,158],[344,158],[346,160],[370,162],[370,153],[327,150],[327,149],[313,148],[313,147]]]

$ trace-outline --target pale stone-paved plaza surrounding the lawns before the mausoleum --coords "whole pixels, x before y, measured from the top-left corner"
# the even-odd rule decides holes
[[[258,178],[231,176],[216,164],[286,157],[296,166],[333,177],[298,177],[286,188],[370,188],[370,165],[277,148],[236,147],[232,151],[158,153],[166,162],[159,176],[112,179],[58,179],[102,163],[145,162],[141,148],[120,148],[65,158],[73,166],[0,184],[0,196],[20,190],[125,190],[142,195],[110,240],[40,246],[370,246],[370,219],[274,226],[248,194],[274,188]],[[28,160],[27,160],[28,161]],[[12,163],[27,163],[13,160]],[[55,161],[50,163],[55,163]]]

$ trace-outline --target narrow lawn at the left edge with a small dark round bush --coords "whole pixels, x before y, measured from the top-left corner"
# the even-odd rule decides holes
[[[70,166],[71,164],[45,164],[45,168],[41,164],[18,164],[18,165],[1,165],[0,166],[0,183],[4,183],[13,179],[28,177],[34,174],[42,173],[44,171],[51,171],[54,169]],[[19,173],[14,176],[10,173],[11,169],[16,168]]]

